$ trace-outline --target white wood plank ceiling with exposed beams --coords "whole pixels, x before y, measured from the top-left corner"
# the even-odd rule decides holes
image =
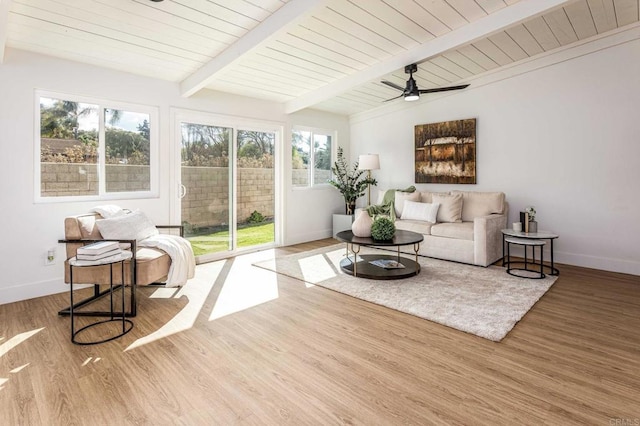
[[[639,21],[640,0],[0,0],[4,47],[350,115]],[[3,9],[5,10],[3,12]],[[2,28],[6,21],[6,28]]]

